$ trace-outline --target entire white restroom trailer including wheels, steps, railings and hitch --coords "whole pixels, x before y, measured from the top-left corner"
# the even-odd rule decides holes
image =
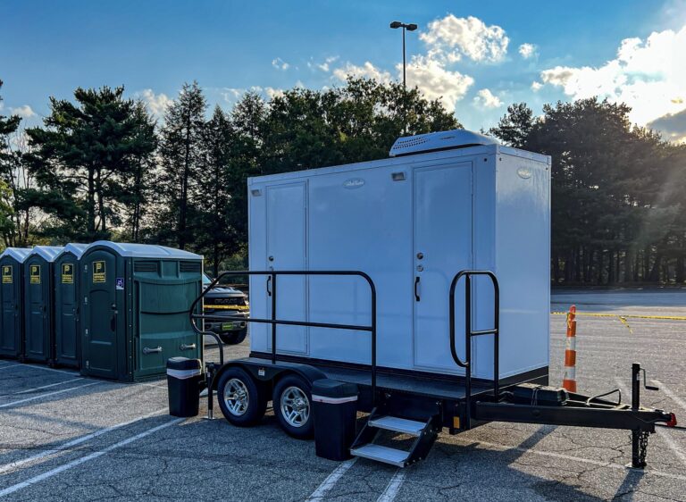
[[[189,311],[216,337],[197,321],[226,317],[196,305],[249,276],[250,355],[224,362],[220,344],[219,364],[205,363],[230,423],[259,423],[272,401],[292,436],[326,424],[323,456],[400,467],[443,428],[492,421],[632,431],[642,467],[648,434],[676,423],[640,406],[640,364],[631,406],[548,387],[550,157],[453,130],[398,138],[388,159],[247,185],[250,270],[222,272]],[[354,431],[356,412],[369,414]],[[415,439],[388,448],[381,431]]]

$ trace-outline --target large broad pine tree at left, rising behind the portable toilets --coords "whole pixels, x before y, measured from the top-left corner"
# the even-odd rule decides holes
[[[155,150],[152,121],[123,92],[77,88],[76,103],[51,97],[45,127],[27,130],[38,182],[27,199],[49,216],[46,235],[96,240],[121,225],[130,180]]]

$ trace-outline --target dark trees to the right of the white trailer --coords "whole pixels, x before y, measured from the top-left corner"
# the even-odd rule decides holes
[[[490,130],[507,144],[552,157],[556,282],[683,276],[677,262],[672,267],[679,270],[660,269],[665,242],[684,242],[684,148],[632,127],[630,111],[590,98],[546,105],[534,118],[519,104]]]

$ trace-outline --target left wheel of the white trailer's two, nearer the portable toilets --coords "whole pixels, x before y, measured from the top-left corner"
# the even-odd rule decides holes
[[[217,383],[217,401],[222,414],[238,427],[258,423],[267,409],[267,398],[264,387],[240,368],[228,369]]]

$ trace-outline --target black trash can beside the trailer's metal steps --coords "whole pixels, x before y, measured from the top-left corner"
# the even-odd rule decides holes
[[[317,456],[347,460],[356,436],[357,386],[330,379],[314,381],[314,448]]]

